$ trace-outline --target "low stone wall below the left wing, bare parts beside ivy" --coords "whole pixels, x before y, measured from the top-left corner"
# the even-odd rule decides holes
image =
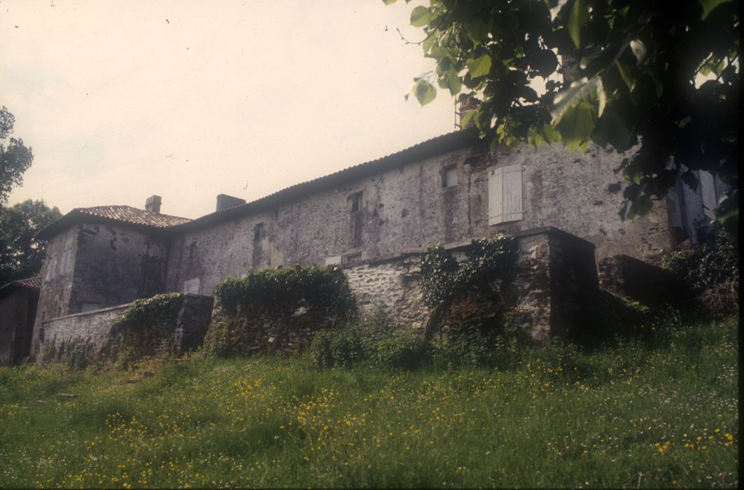
[[[185,294],[179,309],[171,354],[180,356],[202,345],[211,318],[214,298]],[[42,321],[39,329],[41,361],[74,364],[111,361],[109,352],[117,341],[114,325],[131,303],[76,313]]]

